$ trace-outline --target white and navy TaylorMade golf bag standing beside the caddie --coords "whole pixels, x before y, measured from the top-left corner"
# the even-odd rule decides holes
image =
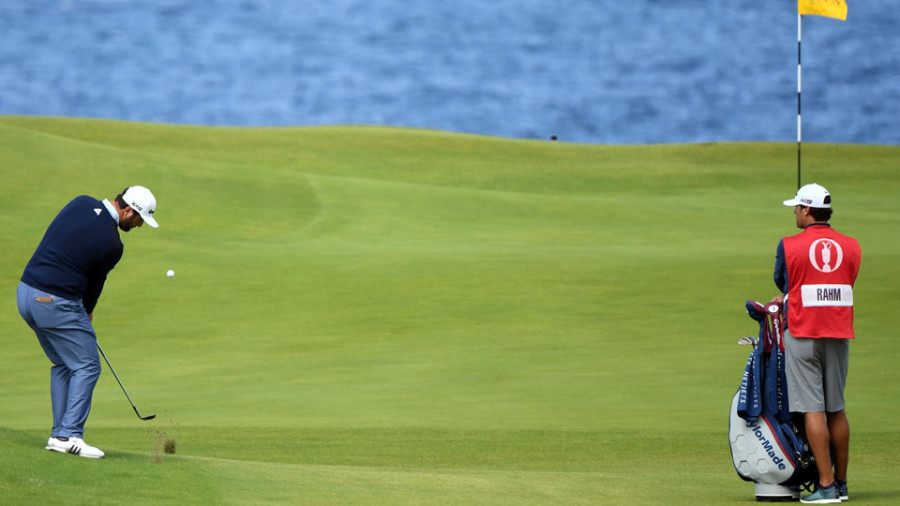
[[[756,483],[758,501],[790,501],[818,479],[803,419],[788,408],[781,305],[747,301],[759,322],[754,344],[731,400],[728,437],[734,468]]]

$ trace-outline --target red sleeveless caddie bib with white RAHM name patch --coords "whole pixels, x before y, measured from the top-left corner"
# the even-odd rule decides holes
[[[812,225],[784,238],[784,256],[791,335],[853,339],[853,283],[860,261],[856,239]]]

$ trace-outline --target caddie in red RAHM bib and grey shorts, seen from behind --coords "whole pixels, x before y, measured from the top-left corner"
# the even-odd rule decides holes
[[[853,284],[859,273],[856,239],[839,234],[831,219],[831,195],[817,184],[785,200],[803,232],[785,237],[775,255],[775,284],[785,304],[788,399],[803,413],[819,483],[801,502],[849,499],[850,424],[844,411],[849,343],[853,333]],[[833,466],[833,467],[832,467]]]

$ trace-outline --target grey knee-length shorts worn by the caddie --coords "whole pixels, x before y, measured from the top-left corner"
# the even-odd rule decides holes
[[[844,409],[850,340],[808,339],[784,332],[788,404],[796,413]]]

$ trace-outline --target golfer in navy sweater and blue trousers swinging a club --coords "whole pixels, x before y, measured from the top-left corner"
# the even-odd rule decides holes
[[[19,314],[53,363],[53,430],[47,450],[82,457],[104,453],[84,442],[84,424],[100,377],[93,312],[106,276],[122,258],[119,230],[158,227],[156,198],[131,186],[115,200],[76,197],[50,223],[19,282]],[[117,228],[118,227],[118,228]]]

